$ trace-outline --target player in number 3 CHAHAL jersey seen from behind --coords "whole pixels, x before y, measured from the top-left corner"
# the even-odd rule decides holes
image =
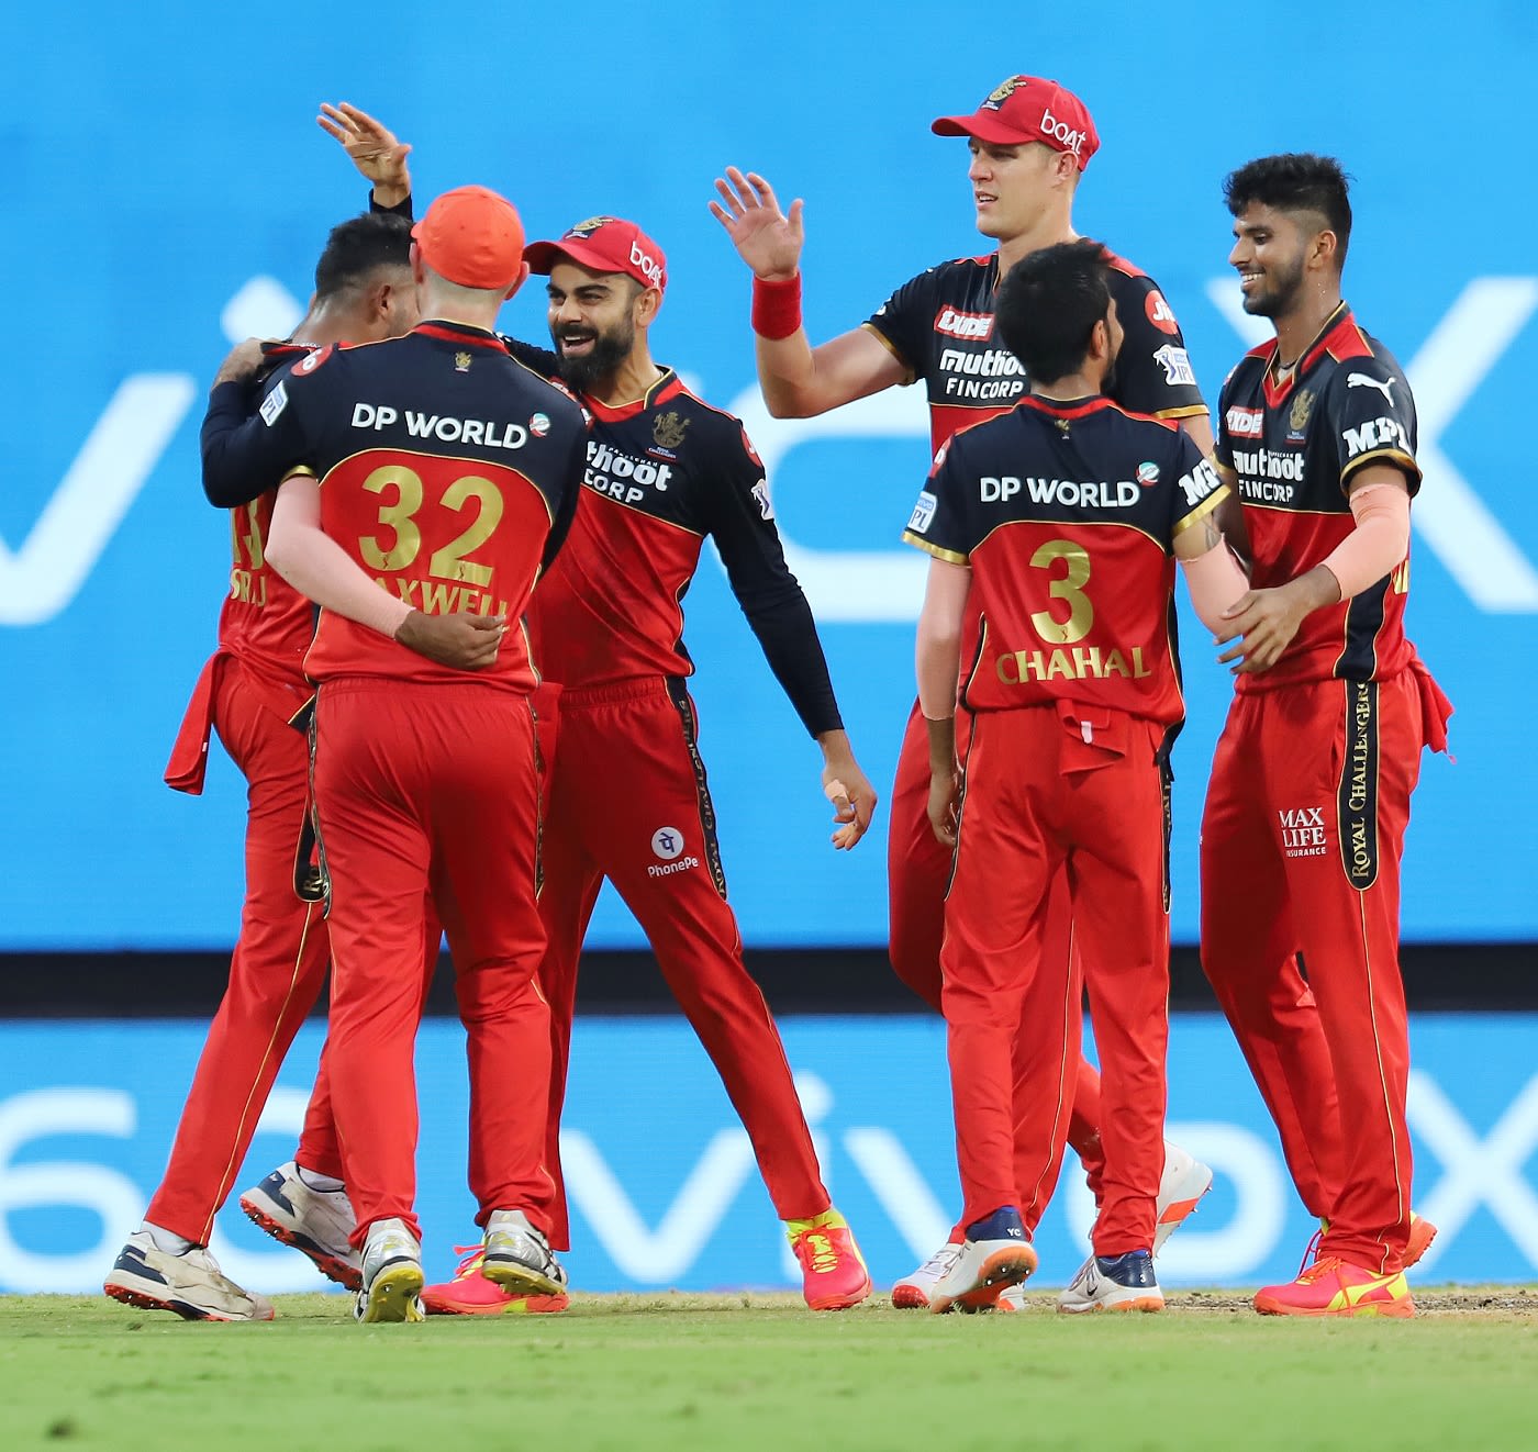
[[[929,820],[955,849],[941,966],[966,1231],[930,1295],[937,1312],[990,1306],[1035,1269],[1017,1186],[1041,1204],[1052,1194],[1078,1051],[1077,977],[1066,960],[1043,960],[1035,932],[1064,868],[1101,1054],[1106,1167],[1092,1269],[1060,1306],[1164,1306],[1152,1247],[1164,1166],[1166,763],[1184,718],[1173,561],[1212,628],[1246,580],[1213,518],[1227,489],[1212,465],[1173,425],[1103,394],[1123,345],[1110,271],[1089,240],[1009,271],[995,318],[1030,392],[941,445],[904,534],[934,557],[918,691]],[[978,648],[963,668],[969,614]],[[958,674],[975,714],[960,814]],[[1066,1035],[1027,1067],[1017,1129],[1021,1017]],[[1024,1175],[1021,1143],[1034,1146]]]

